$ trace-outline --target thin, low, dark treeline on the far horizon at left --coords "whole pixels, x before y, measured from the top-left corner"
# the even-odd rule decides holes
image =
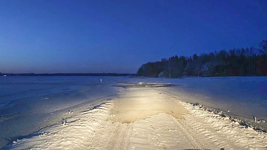
[[[0,72],[0,74],[2,74]],[[6,73],[2,75],[7,76],[135,76],[136,74],[130,73]]]

